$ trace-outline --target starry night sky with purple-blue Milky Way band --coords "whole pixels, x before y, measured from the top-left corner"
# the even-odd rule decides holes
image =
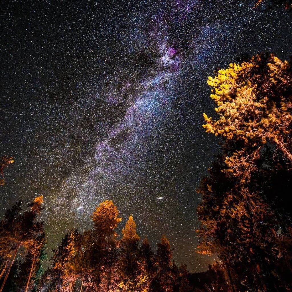
[[[242,54],[291,54],[291,15],[253,6],[2,1],[0,154],[15,163],[0,214],[43,194],[51,250],[113,199],[121,227],[133,214],[141,237],[166,234],[178,264],[205,270],[215,257],[194,252],[195,190],[219,152],[201,127],[206,80]]]

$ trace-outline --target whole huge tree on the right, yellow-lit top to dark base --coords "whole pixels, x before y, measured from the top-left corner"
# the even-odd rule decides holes
[[[291,242],[291,80],[288,62],[273,55],[208,80],[219,116],[204,114],[203,126],[224,143],[199,188],[198,250],[218,255],[234,292],[291,289],[291,245],[279,253],[282,240]]]

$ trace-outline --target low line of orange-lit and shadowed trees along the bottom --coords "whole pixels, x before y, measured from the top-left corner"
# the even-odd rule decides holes
[[[139,244],[133,216],[126,222],[119,240],[115,229],[121,218],[117,207],[108,200],[93,212],[93,228],[66,234],[54,251],[51,266],[40,273],[46,243],[42,224],[36,221],[41,204],[42,197],[37,197],[30,209],[21,213],[18,202],[1,221],[3,291],[230,291],[222,264],[214,263],[207,272],[191,274],[186,265],[180,268],[175,265],[173,251],[164,235],[156,253],[147,238]],[[16,263],[20,246],[25,248],[25,258]]]

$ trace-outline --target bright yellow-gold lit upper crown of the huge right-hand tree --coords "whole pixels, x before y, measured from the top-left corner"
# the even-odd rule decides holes
[[[292,74],[287,61],[256,55],[208,78],[218,118],[205,113],[206,132],[254,147],[272,142],[292,161]]]

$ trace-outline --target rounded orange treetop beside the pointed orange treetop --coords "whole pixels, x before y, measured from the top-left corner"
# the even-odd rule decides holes
[[[119,211],[112,200],[105,200],[95,208],[91,218],[95,229],[106,231],[117,227],[122,218],[118,217]]]

